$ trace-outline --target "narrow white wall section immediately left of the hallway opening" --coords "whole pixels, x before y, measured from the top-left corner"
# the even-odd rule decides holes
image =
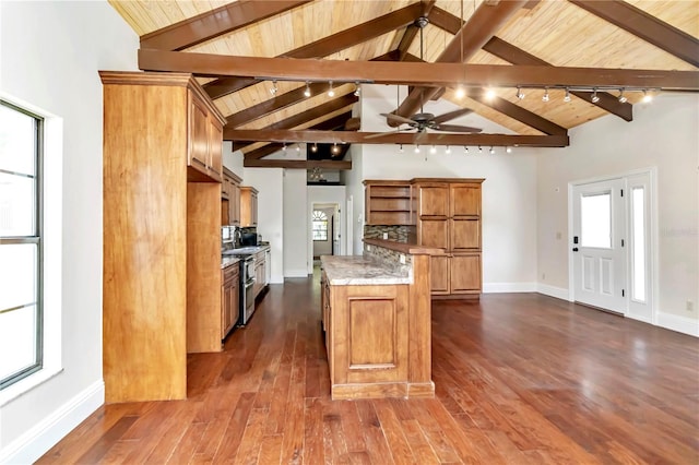
[[[307,275],[308,224],[306,170],[286,169],[284,175],[284,276]]]

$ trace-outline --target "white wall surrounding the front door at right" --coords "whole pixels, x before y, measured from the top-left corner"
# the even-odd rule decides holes
[[[632,122],[606,116],[571,130],[569,147],[541,151],[537,255],[544,287],[568,289],[568,183],[657,167],[660,320],[699,335],[698,128],[699,97],[661,94],[635,105]],[[695,302],[694,312],[685,310],[687,300]]]

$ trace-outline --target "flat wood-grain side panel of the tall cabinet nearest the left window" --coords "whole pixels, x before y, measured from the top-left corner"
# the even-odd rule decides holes
[[[105,398],[185,398],[187,88],[106,84],[104,100]]]

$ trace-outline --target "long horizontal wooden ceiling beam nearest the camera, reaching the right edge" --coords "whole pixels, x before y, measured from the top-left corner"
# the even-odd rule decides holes
[[[370,82],[375,84],[517,87],[597,87],[698,92],[699,71],[565,68],[536,65],[343,61],[234,57],[214,53],[139,50],[144,71],[189,72],[200,76],[256,75],[285,81]]]

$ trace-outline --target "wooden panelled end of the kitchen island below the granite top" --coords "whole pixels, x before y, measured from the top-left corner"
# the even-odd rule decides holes
[[[405,381],[407,286],[333,286],[333,384]]]

